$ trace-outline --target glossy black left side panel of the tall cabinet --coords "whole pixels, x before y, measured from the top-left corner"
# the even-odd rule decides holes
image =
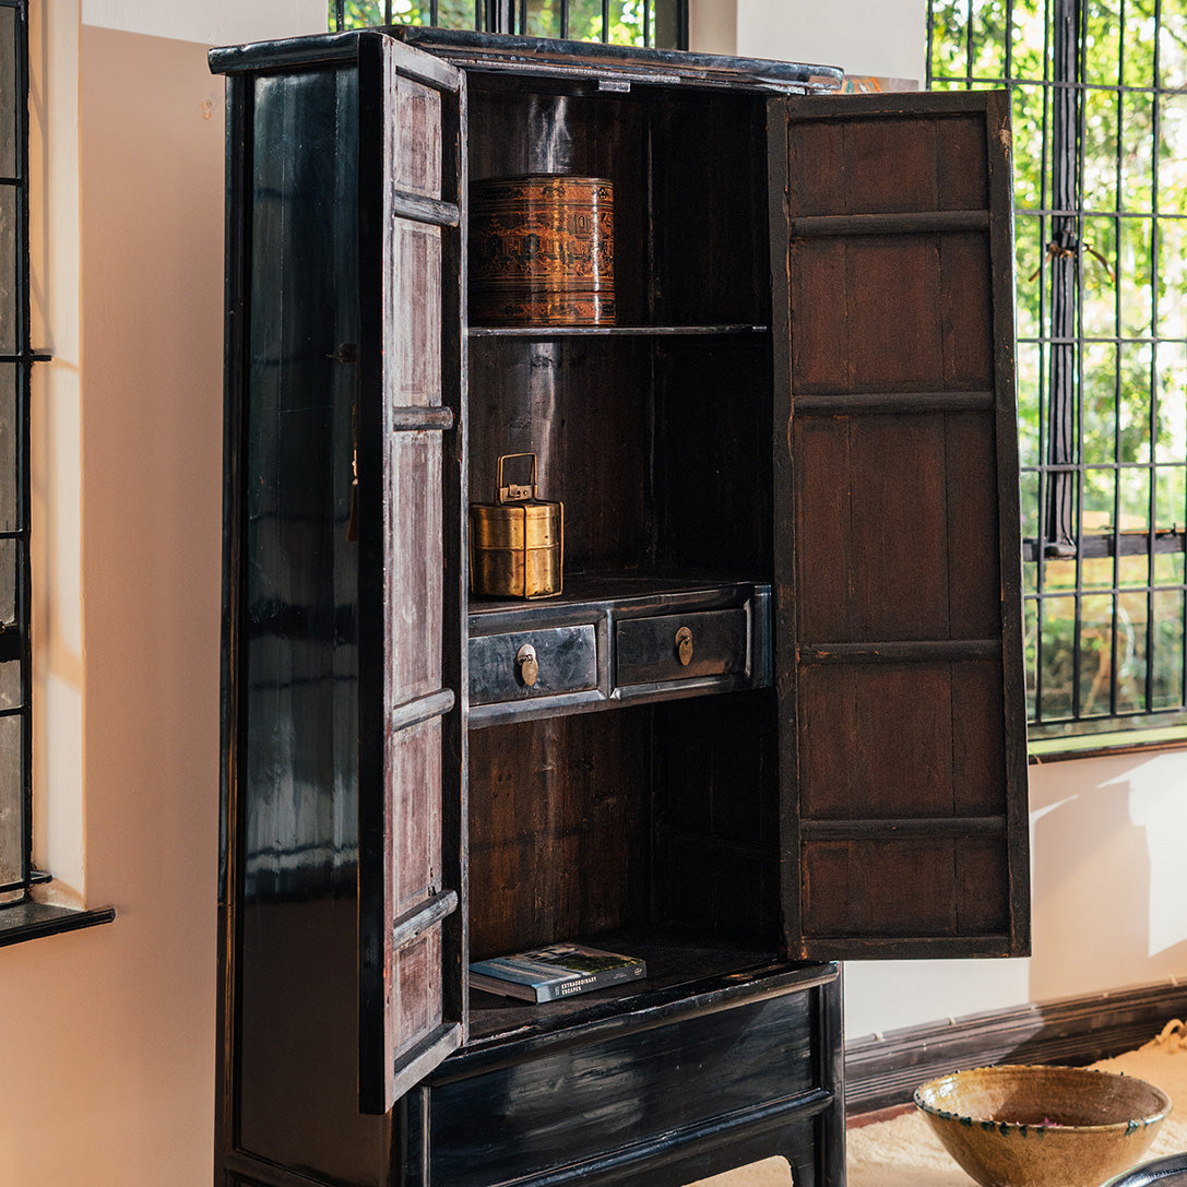
[[[375,1181],[357,1107],[357,341],[353,65],[236,78],[220,1166]],[[317,1124],[313,1124],[313,1121]]]

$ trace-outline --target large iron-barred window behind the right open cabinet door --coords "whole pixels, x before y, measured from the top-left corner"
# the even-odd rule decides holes
[[[1032,737],[1182,730],[1187,0],[931,0],[927,82],[1013,96]]]

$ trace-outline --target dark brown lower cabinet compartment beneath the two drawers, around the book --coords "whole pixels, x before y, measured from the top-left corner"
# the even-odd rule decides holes
[[[770,690],[474,731],[471,959],[582,939],[648,977],[547,1005],[475,991],[472,1034],[774,958],[774,766]]]

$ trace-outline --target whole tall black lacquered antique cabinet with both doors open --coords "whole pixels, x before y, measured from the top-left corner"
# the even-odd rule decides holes
[[[432,30],[211,62],[217,1182],[839,1187],[832,961],[1027,945],[1004,100]],[[612,182],[615,325],[469,323],[469,179],[528,172]],[[471,598],[521,451],[564,592]],[[468,992],[573,938],[648,978]]]

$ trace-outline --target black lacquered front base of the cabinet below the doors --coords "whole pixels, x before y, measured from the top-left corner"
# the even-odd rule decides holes
[[[837,1068],[821,1059],[839,1024],[834,967],[688,990],[443,1065],[405,1102],[432,1134],[427,1150],[410,1143],[410,1182],[675,1187],[779,1153],[796,1187],[842,1183]]]

